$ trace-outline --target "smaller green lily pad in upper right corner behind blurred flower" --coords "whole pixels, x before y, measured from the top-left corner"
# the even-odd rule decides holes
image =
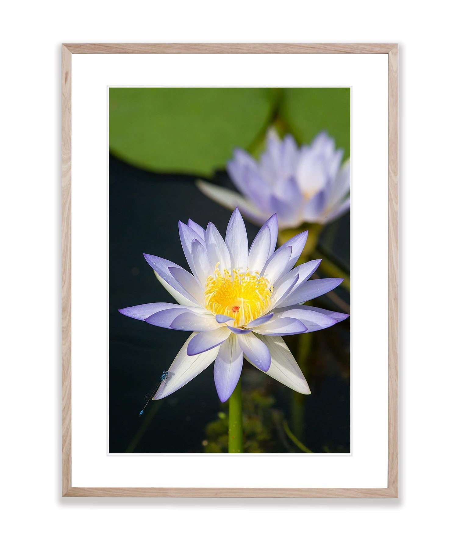
[[[301,144],[321,131],[351,154],[351,88],[285,88],[280,116]]]

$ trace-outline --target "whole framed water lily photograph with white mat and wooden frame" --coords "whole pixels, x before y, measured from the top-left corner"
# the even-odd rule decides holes
[[[63,495],[397,497],[397,44],[64,44]]]

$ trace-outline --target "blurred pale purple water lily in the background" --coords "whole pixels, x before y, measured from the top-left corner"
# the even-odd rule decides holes
[[[281,141],[270,130],[267,150],[256,162],[244,150],[235,149],[227,164],[230,179],[241,194],[199,181],[207,197],[229,209],[238,206],[241,213],[262,225],[273,213],[278,214],[280,229],[304,222],[325,225],[343,215],[351,205],[351,166],[341,165],[343,150],[335,150],[335,141],[319,133],[311,145],[298,147],[294,137]]]

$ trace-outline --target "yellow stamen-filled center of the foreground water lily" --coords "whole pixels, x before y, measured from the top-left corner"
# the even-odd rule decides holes
[[[214,276],[206,279],[205,307],[215,315],[235,319],[234,326],[244,326],[268,309],[273,287],[258,273],[221,272],[216,265]]]

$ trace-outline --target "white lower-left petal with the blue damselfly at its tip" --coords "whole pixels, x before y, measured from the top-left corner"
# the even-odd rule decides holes
[[[160,384],[159,390],[154,395],[153,400],[163,399],[164,396],[171,395],[191,379],[194,379],[195,376],[198,376],[199,373],[216,360],[217,348],[202,352],[199,355],[189,356],[187,354],[187,346],[195,334],[195,332],[190,334],[176,355],[172,365],[168,368],[168,378]]]

